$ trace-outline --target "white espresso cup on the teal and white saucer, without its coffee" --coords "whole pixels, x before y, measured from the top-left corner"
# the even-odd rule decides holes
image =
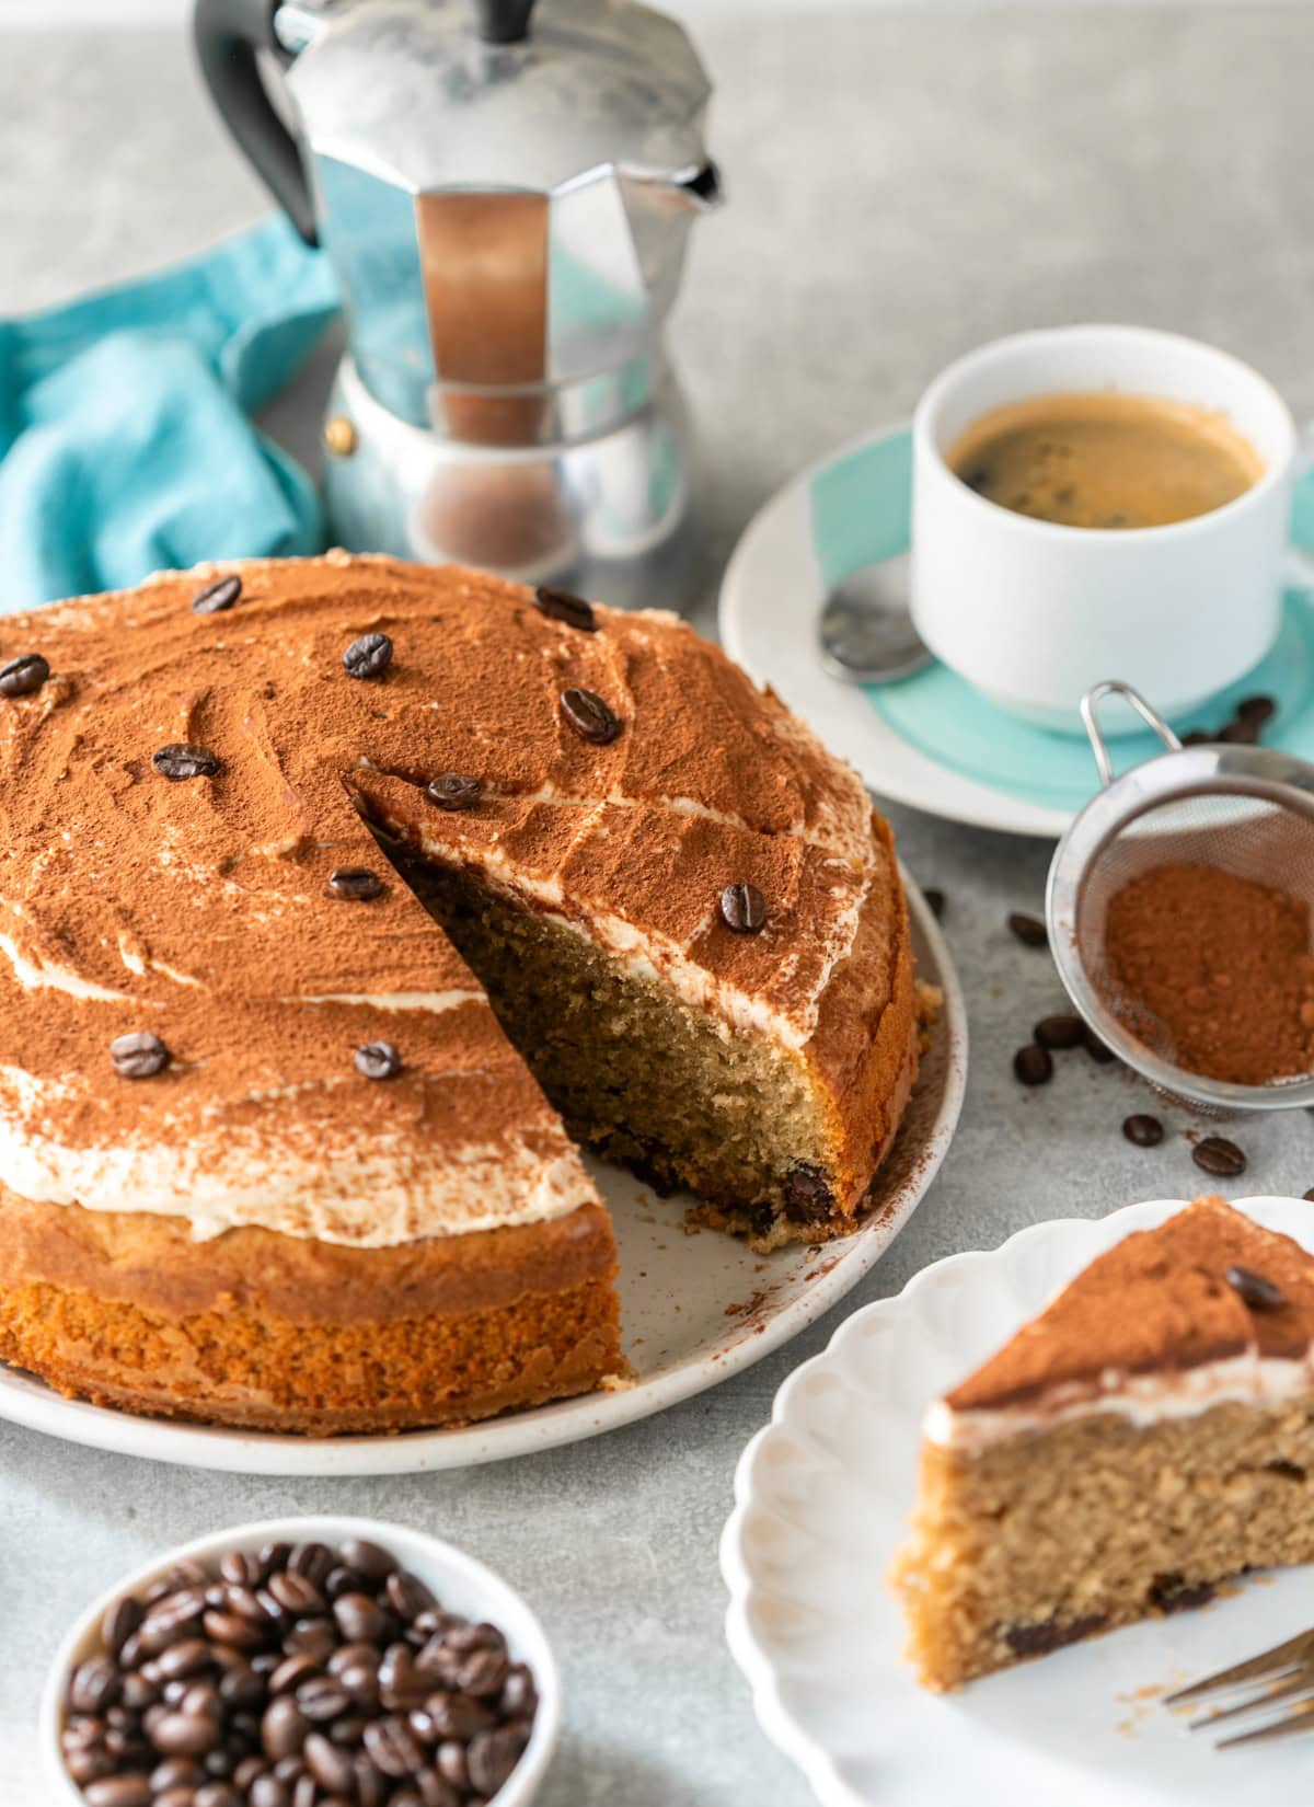
[[[1189,520],[1074,528],[985,501],[945,463],[992,408],[1093,390],[1220,412],[1263,472]],[[1276,389],[1197,340],[1079,325],[983,345],[931,383],[913,419],[916,631],[994,703],[1043,726],[1081,732],[1077,705],[1106,678],[1182,716],[1245,676],[1278,634],[1296,457]]]

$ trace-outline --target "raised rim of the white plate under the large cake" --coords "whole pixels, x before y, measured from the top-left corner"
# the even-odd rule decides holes
[[[334,1438],[251,1433],[136,1417],[81,1399],[65,1399],[34,1377],[0,1364],[0,1420],[114,1455],[233,1475],[412,1475],[475,1467],[584,1442],[667,1411],[750,1368],[815,1323],[869,1272],[929,1191],[958,1124],[967,1082],[967,1010],[962,985],[920,887],[902,862],[898,869],[913,920],[920,976],[943,992],[934,1030],[942,1041],[934,1055],[940,1095],[933,1117],[922,1131],[920,1144],[915,1146],[915,1158],[907,1162],[904,1182],[884,1207],[851,1236],[822,1245],[813,1256],[808,1256],[806,1245],[792,1243],[766,1258],[777,1270],[783,1261],[793,1261],[797,1267],[797,1281],[790,1274],[784,1287],[784,1303],[779,1308],[761,1310],[727,1306],[725,1337],[710,1352],[672,1361],[651,1377],[640,1373],[633,1386],[616,1391],[584,1393],[578,1399],[555,1400],[481,1424]],[[678,1236],[680,1222],[674,1209],[665,1225],[672,1232],[672,1241],[683,1241]],[[719,1234],[712,1231],[699,1236],[699,1247],[716,1247],[719,1241]],[[730,1243],[730,1247],[739,1250],[736,1259],[743,1269],[743,1245]],[[622,1288],[624,1285],[622,1274]],[[730,1310],[741,1310],[743,1315],[730,1317]]]

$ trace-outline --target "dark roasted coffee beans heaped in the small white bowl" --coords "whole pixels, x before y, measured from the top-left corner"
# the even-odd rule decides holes
[[[69,1675],[89,1807],[484,1807],[539,1695],[378,1543],[267,1543],[114,1601]]]

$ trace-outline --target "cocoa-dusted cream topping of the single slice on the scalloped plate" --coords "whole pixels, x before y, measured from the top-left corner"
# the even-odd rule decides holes
[[[1137,1420],[1314,1386],[1314,1258],[1222,1198],[1197,1198],[1090,1263],[927,1417],[992,1442],[1090,1411]]]

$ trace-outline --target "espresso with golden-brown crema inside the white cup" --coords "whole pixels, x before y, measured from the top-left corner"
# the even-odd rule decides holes
[[[1234,502],[1263,459],[1218,410],[1104,389],[990,408],[945,454],[989,502],[1068,528],[1164,528]]]

